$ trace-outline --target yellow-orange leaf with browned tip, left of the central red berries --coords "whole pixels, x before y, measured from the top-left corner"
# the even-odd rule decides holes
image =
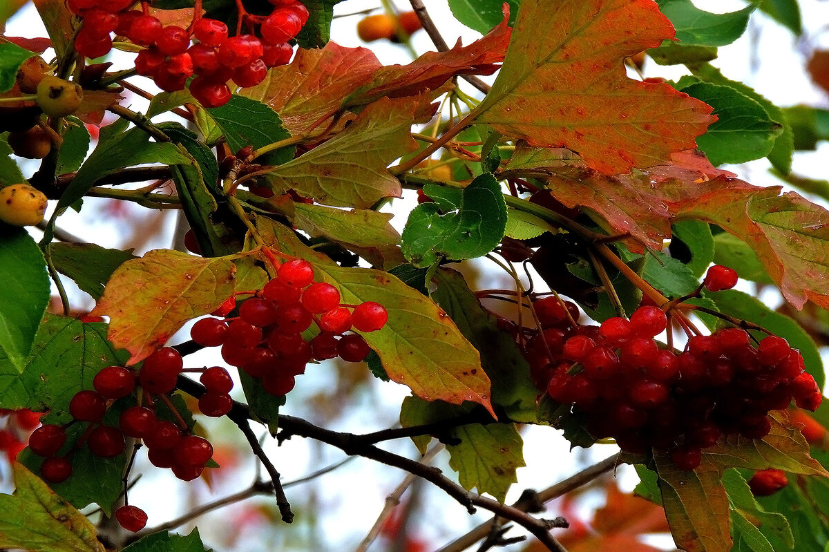
[[[90,315],[109,317],[107,337],[129,351],[132,365],[229,298],[235,272],[230,259],[156,249],[119,266]]]

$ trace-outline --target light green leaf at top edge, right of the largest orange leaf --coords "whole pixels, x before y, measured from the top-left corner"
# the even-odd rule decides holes
[[[676,27],[676,40],[694,46],[726,46],[743,35],[751,12],[749,5],[730,13],[704,12],[691,0],[657,0],[659,9]]]

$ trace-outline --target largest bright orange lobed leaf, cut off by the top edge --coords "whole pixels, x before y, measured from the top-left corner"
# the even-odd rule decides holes
[[[695,147],[715,118],[664,83],[630,80],[623,58],[674,36],[650,0],[524,0],[478,121],[508,138],[568,148],[607,174]]]

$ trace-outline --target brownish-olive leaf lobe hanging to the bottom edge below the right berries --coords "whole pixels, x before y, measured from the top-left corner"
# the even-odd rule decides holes
[[[708,456],[695,470],[682,470],[670,457],[655,454],[659,489],[671,535],[686,552],[729,552],[729,501],[724,467]]]

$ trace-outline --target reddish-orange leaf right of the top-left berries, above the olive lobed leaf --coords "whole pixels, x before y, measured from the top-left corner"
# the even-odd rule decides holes
[[[295,136],[340,109],[342,99],[369,82],[381,67],[371,50],[328,42],[319,50],[300,48],[290,65],[275,67],[260,85],[240,94],[274,108]]]

